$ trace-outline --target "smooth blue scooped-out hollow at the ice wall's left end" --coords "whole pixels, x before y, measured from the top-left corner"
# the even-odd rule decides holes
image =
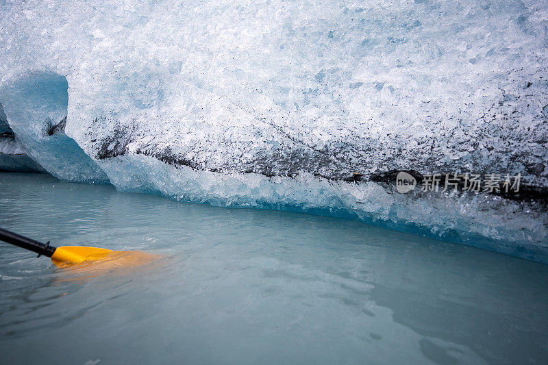
[[[64,134],[67,89],[66,78],[53,73],[30,73],[3,87],[1,103],[17,138],[14,144],[21,144],[19,154],[28,155],[55,177],[104,183],[108,177],[101,168]],[[6,152],[12,159],[18,154]]]

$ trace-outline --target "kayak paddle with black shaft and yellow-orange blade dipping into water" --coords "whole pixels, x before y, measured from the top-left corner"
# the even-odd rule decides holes
[[[124,251],[114,251],[109,249],[100,249],[99,247],[85,246],[62,246],[53,247],[46,243],[38,242],[0,228],[0,240],[14,244],[23,249],[38,253],[37,257],[44,255],[51,257],[51,261],[56,266],[66,266],[66,264],[79,264],[81,262],[99,261],[105,259],[110,253],[123,253]]]

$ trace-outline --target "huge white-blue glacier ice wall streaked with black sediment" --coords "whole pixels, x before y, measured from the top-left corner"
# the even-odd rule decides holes
[[[546,191],[544,1],[4,1],[0,12],[0,103],[55,177],[353,216],[548,262],[542,199],[398,194],[371,179],[509,173]]]

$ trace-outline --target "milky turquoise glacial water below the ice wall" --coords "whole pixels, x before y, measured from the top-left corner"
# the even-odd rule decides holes
[[[543,264],[342,218],[179,203],[39,174],[1,173],[0,207],[0,227],[54,246],[161,255],[97,273],[0,243],[4,364],[548,358]]]

